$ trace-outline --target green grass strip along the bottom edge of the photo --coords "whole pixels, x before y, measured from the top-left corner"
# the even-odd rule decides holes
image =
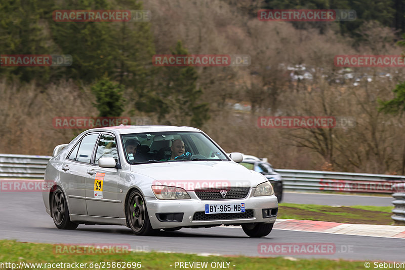
[[[363,261],[327,260],[327,259],[287,259],[258,258],[258,257],[218,257],[198,256],[181,253],[155,253],[155,252],[131,252],[130,254],[115,255],[60,255],[55,254],[55,246],[52,244],[20,243],[11,240],[0,240],[0,262],[16,263],[99,263],[99,262],[141,262],[141,269],[176,269],[175,262],[208,262],[205,269],[214,269],[212,262],[229,262],[229,269],[364,269]],[[258,254],[259,255],[259,254]],[[170,266],[173,265],[173,266]],[[235,265],[235,266],[233,266]],[[11,267],[4,267],[8,269]],[[24,269],[38,269],[35,267],[23,267]],[[97,267],[93,267],[97,268]],[[102,268],[102,267],[100,267]],[[137,267],[109,267],[108,269],[139,269]],[[177,267],[179,268],[179,266]],[[218,268],[218,267],[216,267]],[[3,269],[3,267],[2,267]],[[44,269],[42,267],[41,269]],[[54,267],[55,269],[55,267]],[[60,269],[69,269],[64,265]],[[87,267],[89,269],[89,267]],[[189,268],[194,269],[194,268]]]

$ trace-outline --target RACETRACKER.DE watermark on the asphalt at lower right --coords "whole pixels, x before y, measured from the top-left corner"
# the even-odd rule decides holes
[[[332,255],[353,253],[353,246],[333,243],[260,243],[257,251],[262,255]]]

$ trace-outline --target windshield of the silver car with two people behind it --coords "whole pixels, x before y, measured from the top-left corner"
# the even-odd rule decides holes
[[[121,135],[130,164],[180,161],[229,161],[200,132],[151,132]]]

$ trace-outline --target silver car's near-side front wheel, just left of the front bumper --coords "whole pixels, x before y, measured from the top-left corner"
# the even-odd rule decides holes
[[[145,200],[138,190],[133,190],[128,197],[127,218],[130,228],[137,236],[154,235],[160,230],[153,229],[150,225]]]

